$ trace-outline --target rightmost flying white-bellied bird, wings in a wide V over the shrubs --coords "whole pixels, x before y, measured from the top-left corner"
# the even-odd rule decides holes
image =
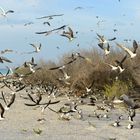
[[[133,51],[131,51],[130,49],[128,49],[128,48],[126,48],[126,47],[124,47],[123,45],[120,45],[120,44],[118,44],[118,43],[116,43],[116,45],[118,46],[118,47],[120,47],[120,48],[122,48],[126,53],[128,53],[129,55],[130,55],[130,58],[134,58],[134,57],[136,57],[136,50],[137,50],[137,48],[138,48],[138,44],[137,44],[137,42],[134,40],[133,41],[133,48],[134,48],[134,50]]]

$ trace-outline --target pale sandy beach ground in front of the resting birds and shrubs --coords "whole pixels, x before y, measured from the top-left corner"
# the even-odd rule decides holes
[[[23,93],[20,93],[24,95]],[[134,118],[134,128],[127,129],[128,113],[124,108],[113,109],[108,112],[108,118],[94,116],[95,106],[80,105],[83,118],[78,119],[76,115],[67,120],[59,119],[58,114],[48,108],[41,113],[40,107],[25,106],[29,103],[16,94],[16,101],[10,110],[4,114],[5,119],[0,121],[0,139],[2,140],[139,140],[140,137],[140,110],[136,110]],[[54,110],[58,110],[65,103],[64,97],[58,97],[59,104],[51,105]],[[1,101],[3,103],[3,101]],[[102,112],[103,113],[103,112]],[[113,127],[119,115],[123,115],[119,127]],[[38,121],[42,119],[42,121]],[[40,130],[40,134],[35,131]]]

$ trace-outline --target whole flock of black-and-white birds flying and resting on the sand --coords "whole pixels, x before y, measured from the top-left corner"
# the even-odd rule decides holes
[[[9,13],[14,13],[13,10],[8,10],[5,11],[3,8],[0,7],[1,10],[1,15],[6,17],[7,14]],[[38,19],[52,19],[55,16],[63,16],[63,14],[60,15],[50,15],[50,16],[43,16]],[[32,22],[26,23],[24,26],[33,24]],[[48,24],[50,26],[49,22],[44,22],[44,24]],[[73,39],[76,38],[74,31],[72,30],[71,27],[67,27],[68,25],[63,25],[58,28],[54,28],[49,31],[43,31],[43,32],[36,32],[36,34],[44,34],[44,35],[49,35],[53,32],[59,33],[61,32],[61,36],[68,38],[69,41],[72,41]],[[67,30],[66,30],[67,27]],[[104,56],[107,57],[111,53],[111,47],[110,47],[110,42],[115,41],[116,37],[111,38],[111,39],[106,39],[103,35],[100,35],[97,33],[97,39],[98,39],[98,46],[101,48],[104,52]],[[109,63],[107,64],[112,71],[118,71],[119,74],[121,74],[125,68],[123,66],[123,63],[127,59],[134,59],[137,56],[137,49],[138,49],[138,43],[137,41],[133,41],[133,50],[130,50],[129,48],[115,42],[116,46],[121,48],[124,52],[126,52],[126,55],[121,59],[121,60],[115,60],[116,65],[112,65]],[[33,54],[33,53],[39,53],[41,51],[41,43],[36,45],[36,44],[30,44],[33,48],[34,51],[31,52],[24,52],[26,54]],[[3,50],[1,51],[1,54],[7,53],[7,52],[13,52],[13,50]],[[77,59],[82,59],[92,65],[92,61],[88,57],[82,56],[79,52],[72,53],[71,56],[69,57],[70,61],[67,63],[57,66],[57,67],[52,67],[49,68],[48,70],[50,71],[55,71],[59,70],[62,74],[63,77],[59,77],[58,80],[60,82],[63,82],[65,85],[70,85],[69,79],[71,78],[70,75],[65,71],[65,68],[72,64],[73,62],[77,61]],[[0,62],[1,63],[12,63],[11,60],[9,60],[6,57],[0,56]],[[26,74],[20,74],[18,73],[18,70],[25,68],[28,69],[29,72]],[[113,101],[107,101],[105,99],[100,99],[98,95],[96,95],[93,91],[93,85],[94,82],[91,83],[89,87],[85,87],[85,93],[80,96],[76,96],[74,94],[74,90],[72,89],[59,89],[54,83],[46,83],[44,84],[43,81],[40,81],[40,83],[37,83],[36,85],[32,85],[30,81],[28,81],[28,84],[26,84],[26,77],[32,75],[33,73],[36,73],[38,70],[41,69],[41,67],[38,67],[38,65],[35,63],[34,57],[30,61],[26,61],[23,65],[20,67],[15,68],[12,70],[11,68],[7,67],[8,71],[6,75],[3,75],[1,73],[1,97],[0,99],[3,100],[5,106],[0,103],[0,120],[4,120],[4,113],[5,111],[11,109],[11,106],[15,103],[16,95],[20,95],[22,93],[22,90],[26,91],[26,96],[25,95],[20,95],[21,98],[24,98],[27,101],[30,101],[29,103],[25,103],[26,106],[29,107],[34,107],[34,106],[40,106],[42,109],[41,111],[44,112],[46,108],[49,110],[53,111],[54,113],[58,114],[58,116],[63,119],[63,120],[70,120],[71,117],[74,114],[78,115],[79,119],[83,119],[83,111],[82,109],[79,109],[79,106],[81,105],[91,105],[91,106],[96,106],[97,110],[103,110],[106,111],[107,113],[110,112],[115,103],[120,103],[124,102],[128,106],[128,120],[129,124],[127,126],[128,129],[132,129],[134,126],[133,120],[136,115],[135,109],[140,108],[139,104],[136,104],[132,99],[130,99],[127,95],[122,95],[119,100],[113,100]],[[25,82],[26,81],[26,82]],[[10,96],[7,96],[7,94],[4,92],[4,88],[7,88],[11,91]],[[64,105],[59,109],[59,110],[54,110],[50,106],[52,104],[59,104],[61,102],[60,96],[65,95],[65,101]],[[42,101],[44,100],[43,97],[45,98],[47,96],[47,101]],[[62,98],[63,99],[63,98]],[[97,117],[98,119],[101,119],[102,117],[108,118],[107,114],[101,115],[97,113],[97,110],[94,112],[94,116]],[[117,120],[112,124],[114,127],[120,126],[120,121],[121,121],[122,115],[118,117]]]

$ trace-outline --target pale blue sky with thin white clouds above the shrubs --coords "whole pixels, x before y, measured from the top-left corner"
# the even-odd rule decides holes
[[[74,10],[79,6],[83,9]],[[10,58],[13,64],[0,64],[1,67],[18,66],[32,56],[37,61],[40,59],[56,61],[65,53],[83,48],[98,49],[96,33],[104,34],[106,38],[115,36],[119,43],[124,43],[124,39],[139,41],[140,3],[138,0],[120,0],[120,2],[118,0],[5,0],[0,3],[0,7],[15,11],[13,14],[8,14],[6,18],[0,16],[0,50],[8,48],[19,52],[4,55]],[[52,14],[64,14],[64,16],[50,20],[50,27],[42,24],[47,21],[46,19],[36,19]],[[97,19],[96,16],[99,18]],[[102,20],[103,22],[98,26],[97,22]],[[27,22],[34,24],[24,26]],[[37,31],[46,31],[64,24],[78,31],[76,39],[72,42],[59,34],[49,36],[35,34]],[[118,31],[114,33],[113,29]],[[21,55],[21,52],[33,50],[30,43],[42,43],[41,52]],[[78,43],[80,47],[76,46]],[[59,50],[57,46],[60,47]]]

